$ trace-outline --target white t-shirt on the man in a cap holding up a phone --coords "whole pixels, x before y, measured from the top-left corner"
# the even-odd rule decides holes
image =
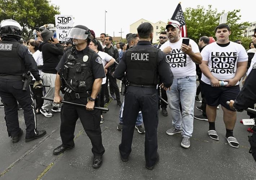
[[[195,63],[192,59],[184,53],[180,48],[182,44],[182,39],[187,39],[182,37],[178,42],[171,43],[170,41],[166,41],[161,47],[160,50],[163,50],[167,46],[172,48],[171,53],[166,54],[166,58],[169,62],[169,66],[172,70],[174,78],[184,78],[187,76],[195,76],[197,73],[195,72]],[[189,39],[189,44],[191,44],[192,51],[194,53],[200,53],[197,43],[195,41]]]

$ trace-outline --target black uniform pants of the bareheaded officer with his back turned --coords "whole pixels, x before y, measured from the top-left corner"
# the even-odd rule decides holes
[[[157,159],[158,92],[156,88],[128,86],[124,97],[122,142],[119,151],[128,158],[138,112],[141,110],[145,127],[145,159],[151,167]]]

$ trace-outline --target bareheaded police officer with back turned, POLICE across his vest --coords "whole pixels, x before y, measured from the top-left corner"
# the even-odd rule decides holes
[[[122,142],[119,151],[122,161],[128,161],[138,112],[141,110],[145,126],[146,168],[152,170],[159,161],[157,152],[158,91],[161,80],[164,89],[172,85],[173,75],[165,54],[151,45],[153,26],[142,23],[137,28],[140,41],[127,50],[115,71],[121,79],[127,72],[129,86],[124,98]],[[160,79],[159,79],[160,78]]]

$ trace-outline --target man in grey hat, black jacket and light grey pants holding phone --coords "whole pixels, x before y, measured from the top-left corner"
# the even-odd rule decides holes
[[[45,96],[48,98],[54,98],[54,87],[55,87],[55,79],[57,70],[55,69],[56,66],[59,63],[60,55],[63,55],[64,50],[59,44],[58,39],[53,38],[54,33],[50,30],[43,30],[41,32],[41,36],[43,38],[43,41],[39,45],[39,50],[43,54],[43,69],[41,73],[41,78],[44,81],[44,84],[49,84],[50,87],[45,87]],[[45,117],[52,117],[53,114],[49,112],[49,107],[52,104],[51,101],[44,100],[44,104],[42,108],[40,109],[40,112]],[[61,112],[61,108],[59,107],[59,104],[53,103],[53,112]]]

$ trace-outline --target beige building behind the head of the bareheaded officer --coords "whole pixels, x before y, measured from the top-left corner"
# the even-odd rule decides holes
[[[145,19],[140,19],[134,23],[132,23],[130,25],[130,33],[137,33],[137,27],[144,23],[144,22],[149,22]],[[156,23],[151,23],[149,22],[150,24],[152,24],[152,26],[154,27],[154,36],[153,36],[153,43],[158,43],[158,40],[159,40],[159,32],[161,32],[161,27],[164,27],[166,26],[166,23],[163,22],[163,21],[158,21]]]

